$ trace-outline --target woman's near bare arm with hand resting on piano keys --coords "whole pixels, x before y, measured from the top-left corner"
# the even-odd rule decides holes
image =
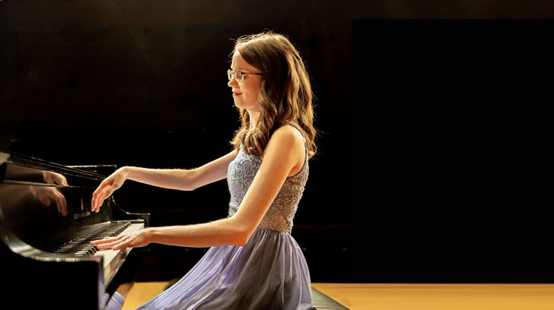
[[[175,246],[207,247],[223,244],[242,246],[285,183],[289,172],[299,165],[298,154],[305,154],[303,138],[296,129],[285,126],[269,139],[262,164],[238,212],[226,219],[187,226],[152,227],[130,235],[94,241],[98,248],[145,246],[150,242]]]

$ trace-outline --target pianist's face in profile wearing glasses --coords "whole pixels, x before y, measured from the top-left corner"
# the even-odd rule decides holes
[[[231,62],[231,70],[242,71],[249,73],[261,73],[260,70],[242,59],[242,56],[238,51],[233,55],[233,62]],[[240,109],[248,109],[251,112],[261,112],[260,102],[258,102],[258,93],[260,93],[260,78],[261,75],[245,74],[244,80],[239,82],[235,76],[228,85],[233,91],[233,100],[235,100],[235,106]]]

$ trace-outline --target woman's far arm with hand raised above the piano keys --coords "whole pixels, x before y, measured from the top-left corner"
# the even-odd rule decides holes
[[[233,152],[193,170],[121,167],[104,179],[93,192],[91,210],[98,212],[102,201],[120,188],[127,179],[172,190],[195,190],[206,184],[220,181],[227,177],[227,167],[235,156],[237,156],[237,152],[233,150]]]

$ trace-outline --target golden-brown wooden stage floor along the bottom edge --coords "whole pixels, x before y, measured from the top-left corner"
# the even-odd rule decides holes
[[[123,310],[139,307],[167,284],[134,284]],[[312,283],[312,286],[352,310],[554,309],[554,284]]]

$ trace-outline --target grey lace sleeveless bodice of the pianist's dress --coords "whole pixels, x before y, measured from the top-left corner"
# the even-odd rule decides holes
[[[283,187],[260,222],[259,228],[287,233],[291,232],[292,219],[296,214],[298,202],[304,192],[309,170],[307,145],[305,147],[306,156],[302,169],[293,176],[287,177]],[[244,153],[242,145],[239,147],[239,152],[235,159],[229,163],[229,168],[227,169],[227,184],[229,185],[229,192],[231,192],[229,217],[232,217],[237,212],[261,164],[262,158]]]

